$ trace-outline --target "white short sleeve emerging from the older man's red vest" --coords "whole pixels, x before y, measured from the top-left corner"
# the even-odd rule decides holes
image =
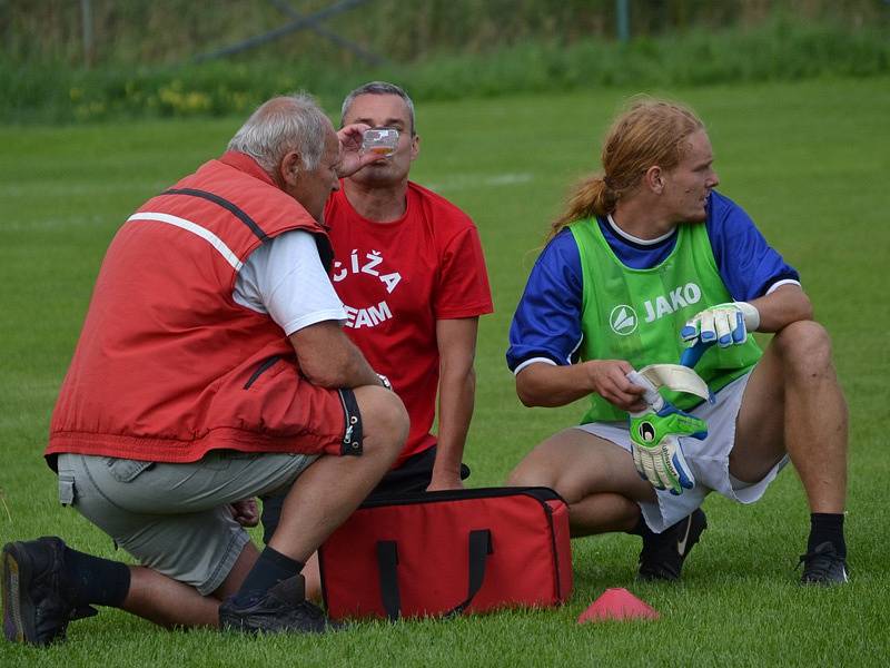
[[[285,232],[250,254],[238,273],[233,298],[269,314],[288,336],[324,321],[346,322],[315,238],[300,229]]]

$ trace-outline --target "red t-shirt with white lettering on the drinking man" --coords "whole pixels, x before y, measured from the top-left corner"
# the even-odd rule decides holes
[[[405,402],[411,431],[396,466],[435,445],[436,321],[491,313],[492,293],[476,226],[456,206],[408,183],[405,215],[374,223],[343,189],[325,209],[334,287],[346,333]]]

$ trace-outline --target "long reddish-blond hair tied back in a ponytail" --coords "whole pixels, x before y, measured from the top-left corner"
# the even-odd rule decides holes
[[[603,141],[603,170],[582,179],[568,196],[562,215],[553,222],[547,239],[563,227],[591,216],[615,210],[619,200],[640,185],[653,165],[664,170],[680,164],[684,139],[704,128],[690,108],[668,100],[634,98],[612,122]]]

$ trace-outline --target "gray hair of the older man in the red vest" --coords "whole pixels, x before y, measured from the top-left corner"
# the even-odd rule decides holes
[[[330,120],[312,96],[277,97],[250,115],[235,132],[228,149],[247,154],[269,174],[275,173],[285,155],[295,150],[303,158],[303,167],[312,171],[325,153],[328,128]]]

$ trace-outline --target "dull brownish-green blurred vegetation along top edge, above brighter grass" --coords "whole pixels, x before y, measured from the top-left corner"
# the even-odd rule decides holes
[[[93,63],[172,65],[273,30],[335,0],[87,0],[92,8]],[[352,0],[324,26],[394,63],[443,52],[485,53],[528,40],[572,45],[613,40],[615,0]],[[82,65],[81,1],[0,2],[0,52],[13,62]],[[793,16],[858,30],[890,22],[884,0],[627,0],[634,37],[699,28],[751,28]],[[289,12],[291,13],[288,13]],[[250,51],[269,59],[310,58],[340,67],[355,59],[310,30]]]

